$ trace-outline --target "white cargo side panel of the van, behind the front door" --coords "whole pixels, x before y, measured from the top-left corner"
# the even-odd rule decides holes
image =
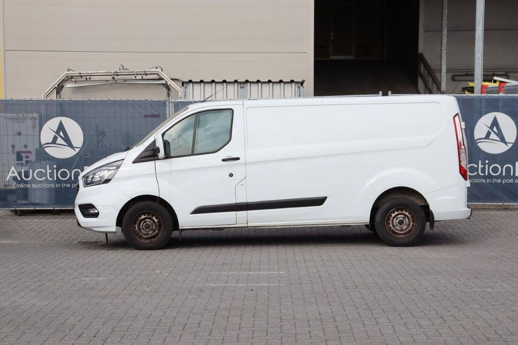
[[[252,100],[244,111],[248,201],[327,196],[318,211],[249,211],[250,226],[368,223],[376,198],[391,188],[424,195],[466,185],[453,97]]]

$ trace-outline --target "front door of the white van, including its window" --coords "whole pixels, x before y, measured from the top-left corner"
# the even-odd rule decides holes
[[[166,158],[155,161],[160,196],[174,208],[180,227],[246,224],[238,203],[244,185],[243,103],[204,107],[159,135]]]

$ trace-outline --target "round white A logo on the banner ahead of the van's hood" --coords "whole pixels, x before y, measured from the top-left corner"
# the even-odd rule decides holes
[[[76,121],[57,117],[50,119],[40,134],[41,146],[53,157],[68,158],[83,145],[83,131]]]

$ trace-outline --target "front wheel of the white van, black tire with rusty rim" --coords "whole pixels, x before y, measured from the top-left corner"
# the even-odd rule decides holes
[[[173,226],[164,206],[142,202],[127,210],[122,220],[122,234],[135,249],[159,249],[171,238]]]

